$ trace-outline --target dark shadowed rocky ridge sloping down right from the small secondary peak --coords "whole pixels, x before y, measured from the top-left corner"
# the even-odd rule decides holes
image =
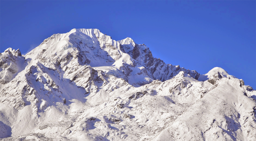
[[[193,78],[198,79],[199,73],[195,70],[187,70],[178,66],[165,64],[162,60],[154,58],[151,51],[145,44],[136,44],[131,38],[118,41],[124,51],[135,59],[139,65],[147,67],[153,75],[153,79],[165,81],[177,75],[180,71],[190,74]]]

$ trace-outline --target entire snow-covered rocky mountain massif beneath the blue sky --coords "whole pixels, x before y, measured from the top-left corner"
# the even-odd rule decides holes
[[[98,29],[0,54],[0,140],[256,140],[256,92]]]

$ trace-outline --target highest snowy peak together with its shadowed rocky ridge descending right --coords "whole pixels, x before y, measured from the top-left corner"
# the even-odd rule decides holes
[[[196,71],[165,64],[154,58],[144,44],[136,44],[131,38],[115,41],[98,29],[72,29],[65,34],[54,34],[25,57],[64,71],[71,65],[90,65],[121,77],[134,86],[156,79],[165,81],[180,71],[191,74],[195,79],[199,76]]]

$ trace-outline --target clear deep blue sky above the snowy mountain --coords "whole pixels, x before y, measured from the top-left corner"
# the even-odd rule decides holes
[[[256,88],[255,1],[0,1],[0,47],[25,54],[55,33],[97,28],[165,63],[214,67]]]

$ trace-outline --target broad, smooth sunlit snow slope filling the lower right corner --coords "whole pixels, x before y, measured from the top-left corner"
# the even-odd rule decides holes
[[[162,131],[156,140],[163,140],[166,135],[171,140],[173,138],[170,138],[170,134],[176,140],[253,140],[246,138],[247,132],[243,133],[242,130],[255,131],[255,122],[251,119],[244,122],[241,117],[249,117],[245,111],[252,111],[255,101],[244,96],[239,85],[237,79],[229,79],[219,85],[195,102],[178,120]],[[247,102],[243,103],[244,101]],[[193,138],[196,136],[197,138]]]

